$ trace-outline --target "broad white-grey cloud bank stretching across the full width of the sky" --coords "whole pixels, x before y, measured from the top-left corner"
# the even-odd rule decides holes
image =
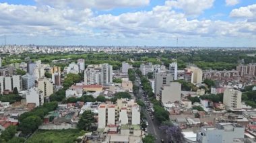
[[[253,38],[256,35],[256,24],[253,22],[188,19],[188,12],[176,11],[177,1],[175,2],[177,5],[174,5],[174,1],[169,2],[166,5],[153,7],[150,11],[129,12],[120,15],[96,15],[91,9],[0,3],[0,31],[8,36],[23,38],[77,36],[89,37],[94,40],[126,38],[169,40],[176,37]],[[185,3],[185,1],[183,2]],[[203,9],[206,9],[206,6],[197,10],[197,13],[203,12]]]

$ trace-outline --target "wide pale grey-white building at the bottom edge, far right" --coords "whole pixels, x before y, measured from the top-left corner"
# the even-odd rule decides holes
[[[197,132],[199,143],[230,143],[245,138],[245,127],[233,123],[218,123],[217,126],[201,127]]]

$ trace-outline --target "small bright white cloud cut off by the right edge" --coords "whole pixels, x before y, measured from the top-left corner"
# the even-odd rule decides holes
[[[247,7],[239,7],[238,9],[233,9],[230,12],[230,17],[238,18],[256,18],[256,4],[248,5]]]

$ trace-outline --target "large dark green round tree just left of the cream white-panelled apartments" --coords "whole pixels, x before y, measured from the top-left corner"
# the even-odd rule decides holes
[[[92,129],[92,124],[94,123],[94,113],[92,113],[92,111],[90,110],[86,110],[79,118],[77,128],[79,128],[80,130],[90,131]]]

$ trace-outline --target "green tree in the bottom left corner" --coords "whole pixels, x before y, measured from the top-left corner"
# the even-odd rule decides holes
[[[13,138],[15,133],[17,132],[17,126],[9,126],[3,132],[1,132],[0,141],[1,142],[8,142]]]

